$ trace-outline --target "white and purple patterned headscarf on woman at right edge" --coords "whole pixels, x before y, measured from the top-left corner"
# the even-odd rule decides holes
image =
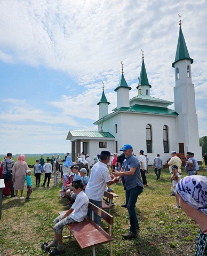
[[[207,177],[186,176],[178,182],[176,190],[188,205],[207,215]]]

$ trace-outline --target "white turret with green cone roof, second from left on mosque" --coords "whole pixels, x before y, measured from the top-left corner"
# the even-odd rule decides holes
[[[117,98],[117,109],[120,107],[129,107],[129,91],[132,89],[128,86],[126,83],[126,80],[124,78],[124,69],[123,69],[123,61],[121,61],[122,65],[122,77],[120,80],[120,83],[118,84],[118,87],[116,87],[116,98]]]

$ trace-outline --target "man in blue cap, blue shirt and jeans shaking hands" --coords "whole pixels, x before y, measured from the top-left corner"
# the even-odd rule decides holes
[[[136,238],[137,230],[139,230],[139,222],[135,207],[137,198],[144,188],[140,177],[140,162],[133,156],[133,148],[130,144],[125,144],[120,151],[123,151],[126,159],[123,161],[121,171],[113,173],[112,177],[124,176],[125,180],[126,208],[130,216],[130,231],[122,236],[124,238]]]

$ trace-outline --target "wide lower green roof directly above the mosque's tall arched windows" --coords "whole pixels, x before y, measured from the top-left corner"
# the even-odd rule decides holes
[[[146,105],[133,105],[131,107],[120,107],[116,111],[126,111],[126,112],[138,112],[138,113],[148,113],[148,114],[161,114],[161,115],[178,115],[178,113],[170,108],[166,107],[154,107]]]

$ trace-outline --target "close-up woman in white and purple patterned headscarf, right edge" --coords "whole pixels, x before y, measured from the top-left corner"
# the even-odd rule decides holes
[[[207,255],[207,177],[187,176],[177,184],[182,210],[200,226],[195,256]]]

